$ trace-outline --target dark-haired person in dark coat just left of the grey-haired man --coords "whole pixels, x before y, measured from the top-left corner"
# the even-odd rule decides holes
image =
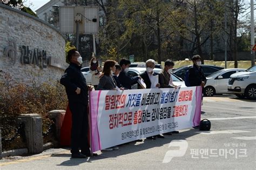
[[[123,87],[125,87],[125,89],[132,89],[132,85],[137,83],[137,81],[140,79],[140,76],[135,76],[135,77],[127,76],[127,72],[129,71],[129,67],[131,65],[130,60],[123,58],[120,60],[119,65],[121,66],[122,71],[118,76],[118,80],[123,85]]]

